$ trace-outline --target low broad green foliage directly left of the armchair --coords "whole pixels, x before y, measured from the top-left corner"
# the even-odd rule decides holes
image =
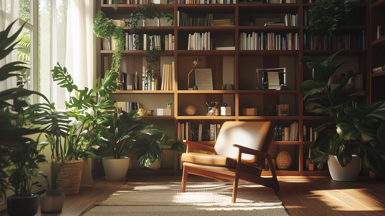
[[[162,150],[172,150],[185,153],[186,148],[181,142],[175,142],[167,135],[167,131],[157,125],[148,125],[139,131],[140,133],[132,140],[129,147],[129,154],[133,161],[137,161],[140,167],[160,169],[160,158]],[[164,145],[170,148],[164,148]],[[152,165],[154,162],[156,166]],[[152,166],[151,166],[152,165]]]

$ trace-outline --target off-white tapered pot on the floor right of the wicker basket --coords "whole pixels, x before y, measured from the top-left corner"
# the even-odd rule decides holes
[[[113,156],[104,157],[103,168],[106,179],[122,179],[126,178],[127,170],[130,165],[129,157],[121,157],[114,159]]]

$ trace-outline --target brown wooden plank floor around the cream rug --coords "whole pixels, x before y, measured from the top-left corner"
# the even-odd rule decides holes
[[[65,197],[61,213],[39,212],[36,216],[78,216],[92,208],[94,202],[107,199],[115,191],[129,190],[145,182],[181,182],[181,178],[136,176],[114,182],[95,177],[96,186],[82,186],[79,194]],[[187,182],[213,181],[198,176],[187,178]],[[357,182],[338,182],[331,177],[280,176],[278,181],[281,188],[276,195],[290,216],[385,216],[385,183],[371,177],[358,177]]]

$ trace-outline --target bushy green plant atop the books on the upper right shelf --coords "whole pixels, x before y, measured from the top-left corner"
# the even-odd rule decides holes
[[[310,24],[306,31],[310,35],[335,35],[338,25],[344,25],[346,20],[357,15],[356,2],[327,0],[320,3],[308,8]]]

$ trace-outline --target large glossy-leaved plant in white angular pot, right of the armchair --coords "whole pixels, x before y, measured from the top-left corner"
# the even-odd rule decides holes
[[[327,83],[331,75],[346,60],[330,66],[338,52],[321,63],[310,56],[301,59],[302,65],[313,69],[313,80],[305,80],[300,85],[301,95],[305,100],[310,95],[325,91],[326,98],[310,98],[306,103],[313,102],[317,104],[313,110],[322,109],[334,117],[334,121],[315,128],[317,132],[331,128],[332,134],[323,138],[317,137],[310,147],[309,158],[318,166],[328,161],[331,177],[337,181],[355,181],[361,161],[365,170],[383,175],[385,105],[383,101],[378,101],[368,106],[360,105],[358,108],[341,108],[352,96],[363,96],[365,93],[360,91],[339,97],[341,89],[357,73],[348,76],[333,90],[329,89]]]

